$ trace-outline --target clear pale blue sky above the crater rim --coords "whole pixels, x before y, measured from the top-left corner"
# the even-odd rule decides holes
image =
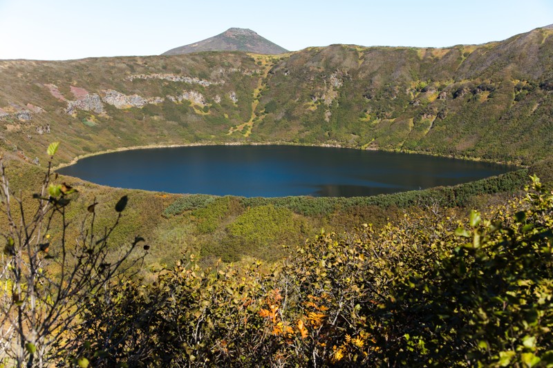
[[[288,50],[445,47],[553,23],[553,0],[0,0],[0,59],[158,55],[230,27]]]

